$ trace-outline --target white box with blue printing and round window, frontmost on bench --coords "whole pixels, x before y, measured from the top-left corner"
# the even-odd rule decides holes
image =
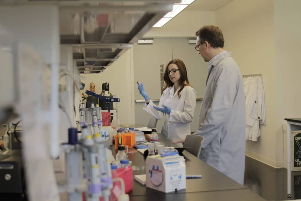
[[[186,188],[186,166],[183,156],[146,158],[146,186],[165,193]]]

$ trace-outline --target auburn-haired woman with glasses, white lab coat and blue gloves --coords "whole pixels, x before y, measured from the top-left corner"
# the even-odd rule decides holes
[[[168,62],[164,81],[159,106],[151,101],[142,83],[138,85],[138,90],[146,101],[143,109],[157,119],[165,118],[161,134],[174,142],[185,139],[186,135],[190,134],[190,122],[193,121],[197,95],[189,85],[185,64],[180,59]]]

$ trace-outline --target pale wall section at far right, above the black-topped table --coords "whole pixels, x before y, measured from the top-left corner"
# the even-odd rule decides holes
[[[300,7],[299,0],[275,0],[276,139],[283,137],[282,124],[286,124],[284,118],[301,116]],[[276,147],[280,143],[280,140],[276,140]],[[276,151],[278,159],[281,150]],[[284,151],[286,155],[286,149]]]

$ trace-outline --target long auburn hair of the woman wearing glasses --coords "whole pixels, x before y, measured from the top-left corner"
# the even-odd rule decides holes
[[[180,90],[178,91],[178,96],[180,98],[181,97],[180,92],[183,90],[183,88],[185,86],[191,86],[189,84],[189,81],[188,81],[186,66],[185,66],[184,62],[182,60],[180,60],[180,59],[173,59],[173,60],[171,60],[171,61],[169,61],[167,63],[166,68],[165,68],[165,72],[164,72],[164,77],[163,77],[163,79],[165,81],[165,85],[163,87],[162,92],[164,90],[166,90],[166,88],[174,85],[172,83],[172,81],[170,81],[169,76],[168,76],[169,74],[167,73],[167,69],[168,69],[169,64],[175,64],[175,65],[177,65],[178,68],[179,68],[180,74],[181,74],[181,77],[179,79]]]

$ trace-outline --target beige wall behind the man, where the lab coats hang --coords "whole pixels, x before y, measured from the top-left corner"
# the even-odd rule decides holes
[[[260,127],[257,142],[246,142],[246,153],[276,166],[274,1],[234,0],[216,11],[216,24],[224,33],[225,49],[232,52],[242,74],[262,73],[266,125]],[[279,160],[282,164],[283,159]]]

